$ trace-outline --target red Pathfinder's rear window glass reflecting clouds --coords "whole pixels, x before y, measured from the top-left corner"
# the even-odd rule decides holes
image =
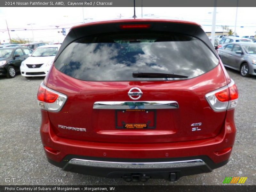
[[[132,73],[171,73],[193,78],[218,63],[213,52],[195,37],[141,33],[103,34],[76,40],[61,52],[54,66],[85,81],[152,81],[184,78],[138,78]]]

